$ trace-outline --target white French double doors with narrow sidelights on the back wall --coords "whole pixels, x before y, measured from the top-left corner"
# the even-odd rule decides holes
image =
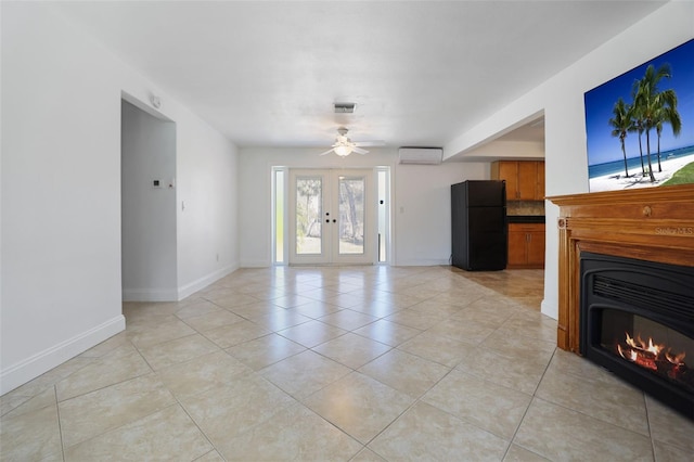
[[[388,193],[388,167],[273,167],[273,264],[387,264]]]

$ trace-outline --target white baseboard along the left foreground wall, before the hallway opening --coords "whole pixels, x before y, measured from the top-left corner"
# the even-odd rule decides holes
[[[126,329],[123,315],[61,342],[0,372],[0,395],[38,377]]]

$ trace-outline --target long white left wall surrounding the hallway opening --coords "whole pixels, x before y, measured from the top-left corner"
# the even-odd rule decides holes
[[[1,8],[5,393],[125,328],[124,91],[141,102],[156,92],[160,113],[177,124],[177,203],[193,204],[184,213],[177,208],[179,296],[237,267],[239,254],[233,144],[46,5]],[[213,195],[211,204],[201,203]],[[205,214],[215,218],[198,223]],[[210,246],[220,261],[197,257]]]

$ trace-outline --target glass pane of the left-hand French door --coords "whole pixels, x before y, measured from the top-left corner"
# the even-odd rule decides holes
[[[321,177],[296,179],[296,254],[321,253],[323,182]]]

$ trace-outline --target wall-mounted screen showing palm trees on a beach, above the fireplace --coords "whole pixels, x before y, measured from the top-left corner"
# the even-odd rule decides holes
[[[590,192],[694,183],[694,39],[583,100]]]

